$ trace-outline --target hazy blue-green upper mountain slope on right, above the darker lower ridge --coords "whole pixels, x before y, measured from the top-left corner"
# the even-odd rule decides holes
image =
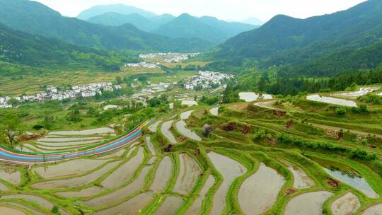
[[[216,57],[262,59],[262,66],[299,64],[335,52],[357,50],[382,38],[382,1],[347,11],[297,19],[275,16],[261,28],[231,38]]]

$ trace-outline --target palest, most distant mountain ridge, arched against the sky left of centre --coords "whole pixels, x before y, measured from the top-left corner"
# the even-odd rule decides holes
[[[157,16],[155,13],[150,11],[142,10],[141,8],[136,8],[134,6],[127,6],[125,4],[111,4],[111,5],[98,5],[88,8],[85,11],[82,11],[77,18],[82,20],[87,20],[94,16],[102,15],[103,13],[120,13],[124,15],[137,13],[145,18]]]

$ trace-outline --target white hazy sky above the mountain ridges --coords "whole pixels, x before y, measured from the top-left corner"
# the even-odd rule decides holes
[[[216,16],[241,21],[257,17],[267,21],[277,14],[296,18],[342,11],[365,0],[35,0],[50,6],[64,16],[77,16],[99,4],[122,3],[154,13],[190,13],[193,16]]]

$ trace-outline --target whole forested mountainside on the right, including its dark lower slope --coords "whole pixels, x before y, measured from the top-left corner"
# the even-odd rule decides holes
[[[231,38],[214,56],[228,64],[255,59],[262,68],[292,65],[295,74],[320,76],[374,68],[381,63],[376,52],[380,47],[376,42],[382,38],[381,20],[379,0],[306,19],[275,16],[261,28]]]

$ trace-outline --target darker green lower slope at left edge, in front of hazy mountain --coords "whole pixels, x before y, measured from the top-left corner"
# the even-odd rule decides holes
[[[57,66],[76,69],[98,66],[117,70],[124,60],[128,62],[129,59],[57,39],[30,35],[0,24],[0,62],[54,69]]]

